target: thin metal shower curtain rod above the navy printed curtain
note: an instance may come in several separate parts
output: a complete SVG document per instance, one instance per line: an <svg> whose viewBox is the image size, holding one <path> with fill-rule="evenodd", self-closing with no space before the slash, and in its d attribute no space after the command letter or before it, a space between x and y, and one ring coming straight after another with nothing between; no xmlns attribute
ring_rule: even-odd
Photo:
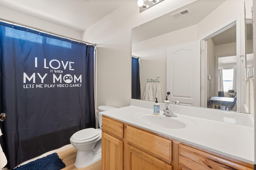
<svg viewBox="0 0 256 170"><path fill-rule="evenodd" d="M17 24L17 25L20 25L20 26L23 26L23 27L27 27L27 28L31 28L31 29L35 29L36 31L43 31L45 33L50 33L51 35L57 35L58 37L62 37L62 38L66 38L66 39L70 39L71 41L78 41L78 42L81 42L81 43L86 43L86 44L89 44L89 45L93 45L94 47L97 46L97 44L93 44L93 43L89 43L89 42L86 42L86 41L82 41L82 40L79 40L79 39L74 39L72 37L67 37L67 36L64 36L64 35L60 35L60 34L57 34L57 33L53 33L53 32L50 32L50 31L46 31L46 30L43 30L43 29L39 29L39 28L36 28L36 27L32 27L32 26L29 26L29 25L25 25L25 24L22 24L22 23L18 23L18 22L14 22L14 21L10 21L10 20L6 20L6 19L3 19L3 18L0 18L0 20L2 21L5 21L5 22L9 22L9 23L12 23L13 24Z"/></svg>

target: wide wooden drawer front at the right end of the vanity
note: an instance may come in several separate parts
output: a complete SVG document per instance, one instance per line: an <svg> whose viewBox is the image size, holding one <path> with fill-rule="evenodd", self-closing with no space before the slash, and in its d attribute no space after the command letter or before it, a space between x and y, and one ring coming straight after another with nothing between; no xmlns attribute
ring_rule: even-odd
<svg viewBox="0 0 256 170"><path fill-rule="evenodd" d="M183 144L179 144L179 163L186 170L252 170L252 168Z"/></svg>

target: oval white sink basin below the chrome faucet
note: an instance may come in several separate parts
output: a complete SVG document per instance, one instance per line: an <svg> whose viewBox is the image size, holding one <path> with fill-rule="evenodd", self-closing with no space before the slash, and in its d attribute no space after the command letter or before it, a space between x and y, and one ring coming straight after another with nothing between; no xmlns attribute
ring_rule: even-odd
<svg viewBox="0 0 256 170"><path fill-rule="evenodd" d="M148 125L157 127L163 127L168 129L183 129L190 125L196 125L196 123L186 117L178 115L178 117L168 117L165 115L154 115L151 112L140 112L134 115L134 118L138 121L142 121Z"/></svg>

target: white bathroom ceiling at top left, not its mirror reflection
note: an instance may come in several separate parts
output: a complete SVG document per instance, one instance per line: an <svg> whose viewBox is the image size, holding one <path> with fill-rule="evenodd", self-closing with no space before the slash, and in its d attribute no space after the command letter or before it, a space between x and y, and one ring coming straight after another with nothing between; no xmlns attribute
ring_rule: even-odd
<svg viewBox="0 0 256 170"><path fill-rule="evenodd" d="M127 1L0 0L0 6L82 32Z"/></svg>

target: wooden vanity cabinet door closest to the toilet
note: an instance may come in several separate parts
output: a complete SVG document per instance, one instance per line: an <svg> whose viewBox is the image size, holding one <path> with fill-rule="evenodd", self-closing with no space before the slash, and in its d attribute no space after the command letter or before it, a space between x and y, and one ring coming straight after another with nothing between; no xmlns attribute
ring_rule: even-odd
<svg viewBox="0 0 256 170"><path fill-rule="evenodd" d="M124 142L102 132L102 170L123 170Z"/></svg>

